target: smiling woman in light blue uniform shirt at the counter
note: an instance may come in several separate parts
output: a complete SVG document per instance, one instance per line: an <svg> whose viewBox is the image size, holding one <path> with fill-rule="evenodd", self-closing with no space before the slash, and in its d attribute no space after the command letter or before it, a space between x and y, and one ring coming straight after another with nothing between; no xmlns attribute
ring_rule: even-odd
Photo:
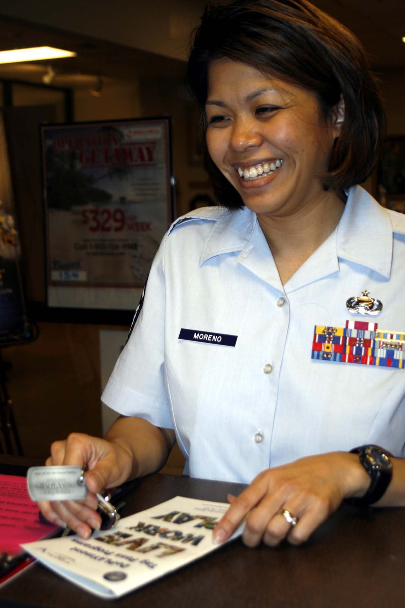
<svg viewBox="0 0 405 608"><path fill-rule="evenodd" d="M102 397L123 416L52 445L47 464L88 466L86 504L41 508L88 536L94 493L178 441L185 474L248 484L215 542L246 519L246 545L299 544L344 499L405 504L405 219L358 185L378 87L306 0L208 9L188 77L219 206L162 241Z"/></svg>

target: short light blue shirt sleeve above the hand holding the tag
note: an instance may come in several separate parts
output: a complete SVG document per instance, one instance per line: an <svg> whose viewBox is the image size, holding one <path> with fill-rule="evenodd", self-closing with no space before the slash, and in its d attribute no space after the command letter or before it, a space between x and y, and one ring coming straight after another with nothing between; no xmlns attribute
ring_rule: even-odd
<svg viewBox="0 0 405 608"><path fill-rule="evenodd" d="M165 388L165 277L162 241L154 258L138 314L102 395L106 406L125 416L173 428Z"/></svg>

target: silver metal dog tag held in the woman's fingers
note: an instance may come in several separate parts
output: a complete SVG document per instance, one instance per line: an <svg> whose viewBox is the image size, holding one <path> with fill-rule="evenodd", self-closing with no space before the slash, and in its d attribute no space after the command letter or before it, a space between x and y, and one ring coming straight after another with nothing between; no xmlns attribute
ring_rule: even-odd
<svg viewBox="0 0 405 608"><path fill-rule="evenodd" d="M87 496L81 466L32 466L27 472L32 500L83 500Z"/></svg>

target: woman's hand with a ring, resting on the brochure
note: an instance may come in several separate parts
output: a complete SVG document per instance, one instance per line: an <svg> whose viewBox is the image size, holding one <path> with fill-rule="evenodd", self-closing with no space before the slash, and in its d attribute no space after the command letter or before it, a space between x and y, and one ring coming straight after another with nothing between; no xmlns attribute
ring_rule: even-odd
<svg viewBox="0 0 405 608"><path fill-rule="evenodd" d="M231 504L213 531L213 541L226 541L246 519L242 538L248 547L256 547L261 541L275 547L285 538L298 545L343 499L362 496L369 483L358 455L347 452L300 458L266 469L240 496L228 496ZM296 525L288 523L283 510L297 518Z"/></svg>

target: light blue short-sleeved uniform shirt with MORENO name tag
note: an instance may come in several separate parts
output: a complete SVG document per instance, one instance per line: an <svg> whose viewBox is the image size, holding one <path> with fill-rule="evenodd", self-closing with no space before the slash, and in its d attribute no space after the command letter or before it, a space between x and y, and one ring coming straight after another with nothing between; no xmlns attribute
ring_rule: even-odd
<svg viewBox="0 0 405 608"><path fill-rule="evenodd" d="M405 331L405 217L351 188L338 227L284 286L249 209L181 219L103 401L175 429L193 477L249 483L269 466L365 443L405 456L405 369L311 359L315 325ZM377 317L348 313L365 290L383 303ZM236 344L179 339L182 328Z"/></svg>

